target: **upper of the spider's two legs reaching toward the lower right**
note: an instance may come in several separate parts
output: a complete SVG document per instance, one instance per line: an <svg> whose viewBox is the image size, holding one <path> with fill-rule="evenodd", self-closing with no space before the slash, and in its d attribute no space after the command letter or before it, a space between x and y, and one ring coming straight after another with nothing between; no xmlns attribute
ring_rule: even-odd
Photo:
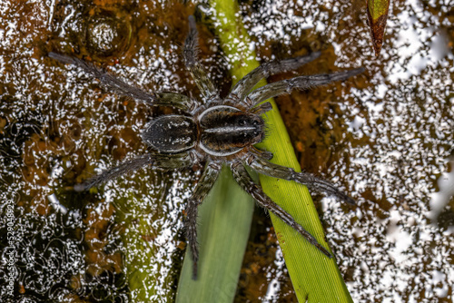
<svg viewBox="0 0 454 303"><path fill-rule="evenodd" d="M251 166L252 170L264 175L283 180L296 181L298 183L306 185L310 191L325 192L328 195L335 196L351 205L355 205L355 200L351 199L345 192L340 191L333 184L331 184L331 182L317 178L311 173L296 172L289 167L266 161L260 156L254 157L254 159L250 163L248 163L248 165Z"/></svg>

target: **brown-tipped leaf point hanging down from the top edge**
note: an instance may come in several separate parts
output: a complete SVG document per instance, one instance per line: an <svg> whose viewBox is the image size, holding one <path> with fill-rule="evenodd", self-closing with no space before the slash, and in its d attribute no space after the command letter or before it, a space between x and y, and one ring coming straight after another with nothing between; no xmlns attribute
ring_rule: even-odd
<svg viewBox="0 0 454 303"><path fill-rule="evenodd" d="M375 55L380 54L383 45L383 36L385 33L386 20L388 19L388 10L390 0L368 0L367 2L368 24L372 45Z"/></svg>

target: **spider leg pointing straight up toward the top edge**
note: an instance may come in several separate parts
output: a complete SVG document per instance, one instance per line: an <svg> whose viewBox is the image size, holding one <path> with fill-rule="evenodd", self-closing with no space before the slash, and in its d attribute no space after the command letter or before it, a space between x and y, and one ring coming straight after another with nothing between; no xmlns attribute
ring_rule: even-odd
<svg viewBox="0 0 454 303"><path fill-rule="evenodd" d="M183 47L183 58L184 64L186 65L189 72L192 74L192 79L199 87L203 97L210 99L213 96L218 95L218 91L212 84L207 73L202 68L197 55L199 54L197 28L195 26L195 19L193 15L189 16L189 34L184 41Z"/></svg>

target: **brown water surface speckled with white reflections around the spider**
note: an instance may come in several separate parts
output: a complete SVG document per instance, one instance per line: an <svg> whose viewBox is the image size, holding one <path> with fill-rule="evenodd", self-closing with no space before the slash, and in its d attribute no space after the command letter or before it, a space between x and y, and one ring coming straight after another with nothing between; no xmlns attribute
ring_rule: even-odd
<svg viewBox="0 0 454 303"><path fill-rule="evenodd" d="M173 298L192 171L138 171L98 191L72 191L96 171L142 153L141 128L169 110L116 97L45 58L49 51L84 55L147 90L195 92L180 57L194 7L169 7L0 4L0 279L15 281L14 301L130 301L125 275L141 270L153 300ZM390 7L379 59L370 49L363 1L241 7L265 61L321 50L321 59L300 73L367 68L353 81L277 100L301 167L359 201L354 210L318 202L353 299L451 301L452 5ZM209 27L201 26L201 36L202 62L226 91L226 59ZM142 247L126 251L124 243ZM148 256L151 263L143 261ZM258 211L236 301L294 301L291 289L270 221ZM11 299L8 288L0 298Z"/></svg>

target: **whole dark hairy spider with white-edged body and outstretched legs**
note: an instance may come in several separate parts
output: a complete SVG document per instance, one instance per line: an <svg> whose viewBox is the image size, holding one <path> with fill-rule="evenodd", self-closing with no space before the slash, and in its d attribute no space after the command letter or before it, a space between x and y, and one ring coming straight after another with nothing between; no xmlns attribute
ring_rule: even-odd
<svg viewBox="0 0 454 303"><path fill-rule="evenodd" d="M282 61L272 61L254 69L233 86L232 92L221 98L207 73L197 58L198 42L195 20L189 18L190 31L183 46L183 60L192 78L202 93L202 100L194 100L179 93L145 93L110 73L104 72L81 59L64 54L50 53L49 56L64 64L74 64L100 80L107 89L152 106L172 106L184 114L163 115L150 122L142 132L143 141L150 152L117 167L101 172L94 178L74 186L76 191L112 180L123 174L146 165L153 169L173 170L192 167L204 163L202 176L188 201L184 222L189 248L192 250L193 278L197 274L199 258L196 220L198 206L207 196L216 181L222 165L229 165L233 178L242 189L252 195L263 208L289 224L302 237L311 242L323 254L331 258L331 253L304 230L291 215L273 202L260 185L252 181L246 166L253 171L288 181L306 185L311 191L322 191L341 200L354 204L347 194L328 181L316 178L307 172L296 172L291 168L271 163L271 152L260 151L253 145L265 137L266 124L261 115L271 111L271 103L263 101L294 89L308 89L333 81L341 81L363 71L362 68L339 73L324 73L299 76L289 80L270 83L252 90L256 83L271 74L297 69L319 57L320 53L295 57ZM252 92L251 92L252 91Z"/></svg>

